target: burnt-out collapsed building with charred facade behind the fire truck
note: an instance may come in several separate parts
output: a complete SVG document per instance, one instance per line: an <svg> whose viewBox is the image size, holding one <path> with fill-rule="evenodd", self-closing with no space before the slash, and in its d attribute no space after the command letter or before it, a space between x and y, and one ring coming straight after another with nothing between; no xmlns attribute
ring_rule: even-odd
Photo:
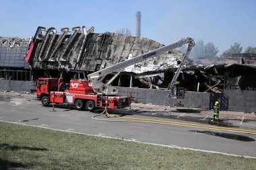
<svg viewBox="0 0 256 170"><path fill-rule="evenodd" d="M111 32L93 33L93 27L71 30L63 28L58 33L55 28L46 30L38 27L31 39L1 38L2 90L22 91L22 85L13 85L20 81L22 84L30 82L24 86L24 91L32 91L38 77L63 77L69 81L78 76L83 79L90 73L164 46L148 38ZM168 91L164 89L168 87L182 57L179 50L171 50L127 67L113 81L113 86L119 87L120 95L128 95L131 91L134 100L139 102L212 108L218 100L225 110L255 112L256 85L246 81L256 75L256 68L251 65L203 67L188 58L179 76L181 86L187 91L185 99L167 97ZM112 76L106 76L104 81ZM233 91L245 98L244 103L235 104Z"/></svg>

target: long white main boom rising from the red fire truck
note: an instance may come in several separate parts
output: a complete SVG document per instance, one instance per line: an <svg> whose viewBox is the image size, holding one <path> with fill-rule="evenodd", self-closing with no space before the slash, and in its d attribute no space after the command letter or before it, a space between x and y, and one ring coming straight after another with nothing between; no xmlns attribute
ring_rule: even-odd
<svg viewBox="0 0 256 170"><path fill-rule="evenodd" d="M179 47L183 46L184 44L189 44L189 48L191 50L191 48L194 46L194 41L192 38L189 38L189 37L185 38L185 39L181 39L178 42L174 42L172 44L162 46L162 47L152 50L150 52L146 52L139 56L135 56L134 58L131 58L129 60L119 62L116 65L110 66L106 69L96 71L96 72L88 75L88 79L90 80L90 85L92 86L94 91L96 91L97 93L117 94L117 89L115 89L114 87L110 87L109 85L106 85L104 83L101 83L100 81L98 81L98 79L100 79L100 77L104 77L105 75L108 75L110 73L115 73L117 71L120 71L121 69L125 69L126 67L134 65L137 62L147 60L148 58L152 58L158 54L162 54L164 52L173 50L174 48L179 48ZM185 60L185 58L187 58L187 56L188 56L187 53L190 52L189 48L188 48L183 60Z"/></svg>

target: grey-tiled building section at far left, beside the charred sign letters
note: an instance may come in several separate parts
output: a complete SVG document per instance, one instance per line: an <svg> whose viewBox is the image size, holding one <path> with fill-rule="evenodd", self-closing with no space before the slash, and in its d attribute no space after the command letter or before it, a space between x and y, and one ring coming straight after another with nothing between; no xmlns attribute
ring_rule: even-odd
<svg viewBox="0 0 256 170"><path fill-rule="evenodd" d="M0 90L30 91L33 72L26 61L30 39L0 37ZM11 83L12 82L12 83ZM23 83L22 89L20 83Z"/></svg>

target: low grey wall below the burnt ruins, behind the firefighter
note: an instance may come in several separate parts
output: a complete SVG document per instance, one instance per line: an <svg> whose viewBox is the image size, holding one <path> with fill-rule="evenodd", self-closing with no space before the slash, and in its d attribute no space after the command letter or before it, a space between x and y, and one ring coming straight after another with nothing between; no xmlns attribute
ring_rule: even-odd
<svg viewBox="0 0 256 170"><path fill-rule="evenodd" d="M256 112L256 91L225 90L223 94L189 91L185 93L184 99L172 99L166 90L118 88L119 95L129 95L131 91L137 102L212 109L214 103L220 101L221 110Z"/></svg>

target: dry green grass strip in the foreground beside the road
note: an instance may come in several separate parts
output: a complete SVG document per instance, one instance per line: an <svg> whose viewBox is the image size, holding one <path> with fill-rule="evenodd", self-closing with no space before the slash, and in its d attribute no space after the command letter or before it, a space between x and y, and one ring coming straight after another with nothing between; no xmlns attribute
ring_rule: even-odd
<svg viewBox="0 0 256 170"><path fill-rule="evenodd" d="M0 122L0 169L255 169L256 159Z"/></svg>

